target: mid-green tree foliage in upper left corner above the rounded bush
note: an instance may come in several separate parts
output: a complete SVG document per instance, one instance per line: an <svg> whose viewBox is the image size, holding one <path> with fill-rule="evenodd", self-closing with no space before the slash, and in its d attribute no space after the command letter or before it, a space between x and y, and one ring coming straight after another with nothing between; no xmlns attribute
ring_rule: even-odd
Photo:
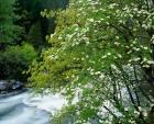
<svg viewBox="0 0 154 124"><path fill-rule="evenodd" d="M15 0L0 0L0 46L8 43L12 44L13 40L15 40L21 32L21 27L14 25L14 21L18 18L13 12L14 1Z"/></svg>

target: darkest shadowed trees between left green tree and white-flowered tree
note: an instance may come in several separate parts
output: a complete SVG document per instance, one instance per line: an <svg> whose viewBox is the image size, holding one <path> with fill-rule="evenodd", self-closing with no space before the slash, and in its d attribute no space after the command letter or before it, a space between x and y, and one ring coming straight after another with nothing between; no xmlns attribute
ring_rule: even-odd
<svg viewBox="0 0 154 124"><path fill-rule="evenodd" d="M65 8L68 0L16 0L15 13L20 15L16 24L24 27L22 40L31 43L38 52L48 44L45 36L55 30L54 18L46 19L40 13L43 9Z"/></svg>

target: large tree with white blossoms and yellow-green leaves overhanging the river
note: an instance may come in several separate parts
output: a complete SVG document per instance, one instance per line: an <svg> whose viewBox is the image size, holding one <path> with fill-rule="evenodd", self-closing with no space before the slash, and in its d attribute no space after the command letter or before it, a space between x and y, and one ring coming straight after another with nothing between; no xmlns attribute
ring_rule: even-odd
<svg viewBox="0 0 154 124"><path fill-rule="evenodd" d="M73 115L72 124L153 123L154 1L70 0L42 15L57 27L31 81L69 100L56 124Z"/></svg>

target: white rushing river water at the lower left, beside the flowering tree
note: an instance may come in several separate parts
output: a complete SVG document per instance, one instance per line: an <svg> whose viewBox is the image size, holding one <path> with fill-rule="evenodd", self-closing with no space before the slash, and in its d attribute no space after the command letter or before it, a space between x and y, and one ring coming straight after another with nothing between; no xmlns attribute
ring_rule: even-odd
<svg viewBox="0 0 154 124"><path fill-rule="evenodd" d="M30 92L0 99L0 124L50 124L50 115L66 101L59 94L37 95Z"/></svg>

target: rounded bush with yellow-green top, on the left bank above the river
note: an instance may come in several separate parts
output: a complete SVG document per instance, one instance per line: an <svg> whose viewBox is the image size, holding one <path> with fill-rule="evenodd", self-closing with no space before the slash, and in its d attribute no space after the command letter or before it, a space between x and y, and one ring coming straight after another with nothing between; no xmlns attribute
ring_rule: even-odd
<svg viewBox="0 0 154 124"><path fill-rule="evenodd" d="M28 70L29 65L36 58L37 54L33 46L23 44L22 46L9 46L0 53L0 79L16 79L25 81L23 70Z"/></svg>

